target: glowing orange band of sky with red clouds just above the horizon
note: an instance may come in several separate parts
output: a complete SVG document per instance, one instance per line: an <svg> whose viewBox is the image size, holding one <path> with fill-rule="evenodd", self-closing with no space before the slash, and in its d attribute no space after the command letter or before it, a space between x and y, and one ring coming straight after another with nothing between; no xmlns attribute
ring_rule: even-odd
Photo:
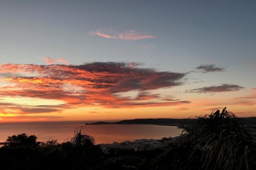
<svg viewBox="0 0 256 170"><path fill-rule="evenodd" d="M255 88L221 84L184 91L185 73L137 65L0 65L8 75L0 77L0 122L187 118L225 106L246 117L256 110Z"/></svg>

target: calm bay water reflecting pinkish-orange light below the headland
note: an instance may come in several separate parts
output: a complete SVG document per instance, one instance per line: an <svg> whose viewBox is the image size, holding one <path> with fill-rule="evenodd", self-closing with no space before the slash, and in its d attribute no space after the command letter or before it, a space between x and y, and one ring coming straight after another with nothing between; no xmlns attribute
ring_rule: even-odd
<svg viewBox="0 0 256 170"><path fill-rule="evenodd" d="M135 139L161 139L175 137L181 134L181 129L175 126L158 125L84 125L84 122L40 122L40 123L0 123L0 142L8 136L26 133L36 135L37 141L45 142L49 139L58 140L59 143L70 140L76 128L95 138L95 142L113 143Z"/></svg>

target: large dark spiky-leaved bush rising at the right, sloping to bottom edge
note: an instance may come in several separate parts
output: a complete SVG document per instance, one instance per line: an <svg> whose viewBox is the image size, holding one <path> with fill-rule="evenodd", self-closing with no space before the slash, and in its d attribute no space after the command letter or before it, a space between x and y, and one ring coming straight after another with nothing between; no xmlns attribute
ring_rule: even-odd
<svg viewBox="0 0 256 170"><path fill-rule="evenodd" d="M226 107L199 116L177 146L158 156L151 169L256 169L251 134Z"/></svg>

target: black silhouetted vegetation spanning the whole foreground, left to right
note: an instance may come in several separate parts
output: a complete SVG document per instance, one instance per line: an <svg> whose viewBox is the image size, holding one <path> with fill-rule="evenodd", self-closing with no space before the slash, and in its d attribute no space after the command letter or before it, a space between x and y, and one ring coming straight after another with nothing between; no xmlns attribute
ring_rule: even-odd
<svg viewBox="0 0 256 170"><path fill-rule="evenodd" d="M255 139L226 108L197 117L169 146L103 152L93 137L77 129L63 143L37 142L35 135L22 133L7 138L0 164L8 169L256 169Z"/></svg>

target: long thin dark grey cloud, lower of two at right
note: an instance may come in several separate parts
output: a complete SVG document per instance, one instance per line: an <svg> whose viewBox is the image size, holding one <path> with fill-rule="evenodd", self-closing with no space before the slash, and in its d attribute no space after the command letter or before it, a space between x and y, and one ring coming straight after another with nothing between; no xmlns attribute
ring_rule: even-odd
<svg viewBox="0 0 256 170"><path fill-rule="evenodd" d="M202 87L198 89L187 90L186 92L197 92L197 93L207 93L207 92L226 92L226 91L238 91L244 89L244 87L235 84L221 84L220 86L210 86Z"/></svg>

